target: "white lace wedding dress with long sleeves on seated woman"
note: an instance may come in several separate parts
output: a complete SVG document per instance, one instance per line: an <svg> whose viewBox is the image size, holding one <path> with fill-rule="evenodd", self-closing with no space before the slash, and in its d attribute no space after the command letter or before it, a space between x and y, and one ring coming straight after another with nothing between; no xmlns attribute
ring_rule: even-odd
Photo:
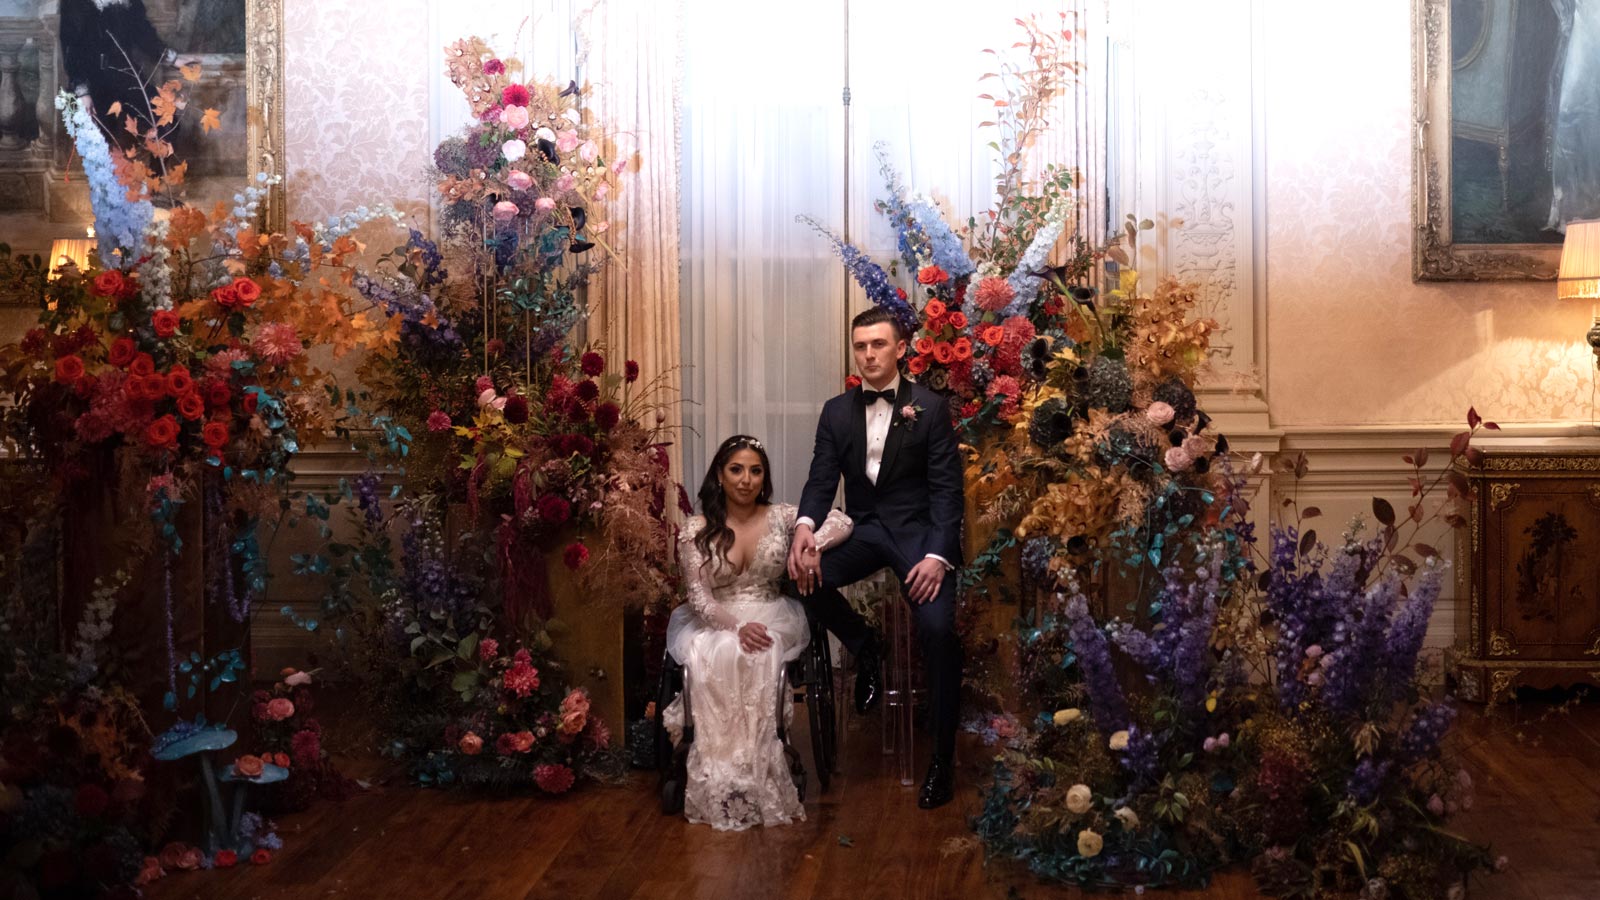
<svg viewBox="0 0 1600 900"><path fill-rule="evenodd" d="M690 519L680 536L688 602L667 621L667 652L685 668L694 724L683 815L718 831L805 820L778 740L781 692L786 722L794 708L784 663L797 658L810 642L805 609L778 593L794 525L792 504L771 504L766 532L742 572L722 559L707 562L694 546L706 527L704 517ZM850 530L850 517L835 509L816 532L818 548L838 544ZM765 625L773 645L746 653L738 628L747 621ZM682 737L683 695L662 711L662 724L674 741Z"/></svg>

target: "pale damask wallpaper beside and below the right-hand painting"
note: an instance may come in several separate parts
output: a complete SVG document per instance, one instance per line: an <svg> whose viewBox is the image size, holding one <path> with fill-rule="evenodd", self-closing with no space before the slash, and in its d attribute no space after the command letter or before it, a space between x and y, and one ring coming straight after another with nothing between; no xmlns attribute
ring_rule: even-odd
<svg viewBox="0 0 1600 900"><path fill-rule="evenodd" d="M1550 283L1411 282L1410 6L1256 5L1272 421L1459 423L1475 404L1587 423L1589 304Z"/></svg>

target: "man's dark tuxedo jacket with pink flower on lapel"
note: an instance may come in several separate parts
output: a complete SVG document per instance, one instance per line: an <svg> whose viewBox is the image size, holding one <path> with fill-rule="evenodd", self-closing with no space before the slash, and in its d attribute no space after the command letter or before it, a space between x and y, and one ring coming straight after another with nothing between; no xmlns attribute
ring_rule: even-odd
<svg viewBox="0 0 1600 900"><path fill-rule="evenodd" d="M901 413L917 407L912 420ZM944 396L901 378L878 482L867 480L867 413L861 388L822 405L800 514L821 524L845 477L845 512L877 520L915 565L930 552L962 564L962 453Z"/></svg>

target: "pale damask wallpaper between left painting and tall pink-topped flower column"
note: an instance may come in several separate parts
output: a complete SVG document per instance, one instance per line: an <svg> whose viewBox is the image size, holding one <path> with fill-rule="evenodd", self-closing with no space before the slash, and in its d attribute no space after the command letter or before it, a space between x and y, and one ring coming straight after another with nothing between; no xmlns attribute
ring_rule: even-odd
<svg viewBox="0 0 1600 900"><path fill-rule="evenodd" d="M427 221L427 0L283 5L290 219L389 202Z"/></svg>

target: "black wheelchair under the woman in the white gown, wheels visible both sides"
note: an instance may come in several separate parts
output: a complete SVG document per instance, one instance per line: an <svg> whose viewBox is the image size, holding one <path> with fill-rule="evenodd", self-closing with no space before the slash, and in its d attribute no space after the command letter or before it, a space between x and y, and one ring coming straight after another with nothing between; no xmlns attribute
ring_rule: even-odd
<svg viewBox="0 0 1600 900"><path fill-rule="evenodd" d="M800 801L806 796L806 770L800 762L800 753L789 743L789 729L784 724L784 703L800 703L806 706L806 717L811 724L811 765L816 769L816 781L821 791L827 791L834 772L838 770L838 716L834 706L834 653L829 647L827 629L806 610L806 626L811 641L800 657L786 665L786 684L779 690L778 740L784 745L784 756L789 759L789 775L794 778ZM683 812L683 791L688 788L688 751L694 741L694 698L686 692L683 665L662 653L661 684L656 689L656 764L659 770L661 812L678 815ZM683 692L683 740L672 746L667 729L661 724L662 711L672 698Z"/></svg>

